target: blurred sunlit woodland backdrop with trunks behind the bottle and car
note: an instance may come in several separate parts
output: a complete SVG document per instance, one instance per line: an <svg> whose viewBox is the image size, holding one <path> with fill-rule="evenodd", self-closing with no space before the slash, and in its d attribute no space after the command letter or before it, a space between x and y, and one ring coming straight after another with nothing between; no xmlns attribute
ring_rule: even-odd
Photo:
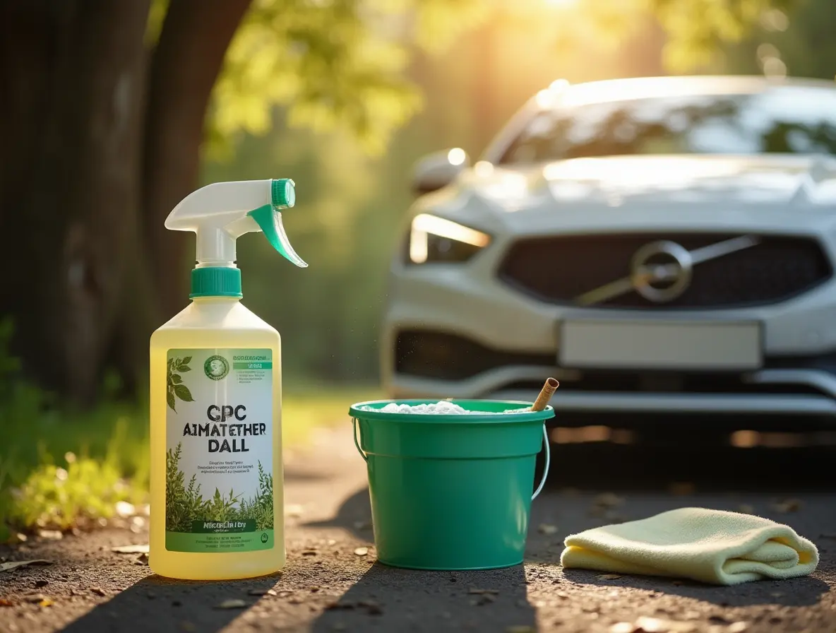
<svg viewBox="0 0 836 633"><path fill-rule="evenodd" d="M833 77L819 54L832 3L795 4L3 3L0 227L15 269L0 310L17 324L13 350L76 400L94 400L108 368L133 391L150 330L186 304L192 238L167 232L167 213L208 181L290 176L286 226L311 268L246 236L245 301L283 333L290 376L375 380L417 156L477 155L558 77L760 73L780 69L763 66L773 48L793 74Z"/></svg>

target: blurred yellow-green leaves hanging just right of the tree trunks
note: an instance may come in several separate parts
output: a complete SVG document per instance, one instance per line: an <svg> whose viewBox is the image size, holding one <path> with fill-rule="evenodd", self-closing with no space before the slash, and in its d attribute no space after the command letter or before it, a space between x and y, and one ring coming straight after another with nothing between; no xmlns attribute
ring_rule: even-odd
<svg viewBox="0 0 836 633"><path fill-rule="evenodd" d="M438 49L486 13L479 0L255 0L227 51L207 151L229 156L238 132L263 134L274 105L288 125L347 130L379 154L421 107L405 76L412 42ZM412 24L416 28L410 28Z"/></svg>

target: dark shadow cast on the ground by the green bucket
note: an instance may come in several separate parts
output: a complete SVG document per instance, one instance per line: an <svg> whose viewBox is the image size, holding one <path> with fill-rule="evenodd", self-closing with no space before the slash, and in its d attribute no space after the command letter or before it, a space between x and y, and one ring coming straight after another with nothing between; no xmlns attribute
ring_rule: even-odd
<svg viewBox="0 0 836 633"><path fill-rule="evenodd" d="M375 563L312 630L366 630L370 617L377 630L536 630L523 565L443 572Z"/></svg>

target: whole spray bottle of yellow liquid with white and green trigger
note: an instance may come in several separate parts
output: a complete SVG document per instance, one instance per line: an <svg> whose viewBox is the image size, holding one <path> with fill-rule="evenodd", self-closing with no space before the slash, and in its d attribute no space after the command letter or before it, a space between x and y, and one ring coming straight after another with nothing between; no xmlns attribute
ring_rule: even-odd
<svg viewBox="0 0 836 633"><path fill-rule="evenodd" d="M241 304L235 242L293 251L281 209L293 181L217 182L166 228L196 232L191 304L150 339L150 567L169 578L271 574L285 562L278 332Z"/></svg>

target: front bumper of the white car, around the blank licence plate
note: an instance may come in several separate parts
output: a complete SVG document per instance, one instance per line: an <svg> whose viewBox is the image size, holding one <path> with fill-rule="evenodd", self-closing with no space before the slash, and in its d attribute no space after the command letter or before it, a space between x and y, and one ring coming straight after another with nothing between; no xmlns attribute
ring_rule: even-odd
<svg viewBox="0 0 836 633"><path fill-rule="evenodd" d="M466 266L395 265L381 340L390 397L532 401L553 375L561 382L552 402L559 411L836 415L834 280L780 304L714 309L710 316L699 310L606 310L608 318L667 323L757 321L764 358L757 370L579 370L558 363L558 324L600 311L547 304L508 287L494 273L497 257L482 253ZM435 358L419 359L429 349L420 342L426 335L449 337L449 349L436 339ZM405 345L410 336L411 347Z"/></svg>

